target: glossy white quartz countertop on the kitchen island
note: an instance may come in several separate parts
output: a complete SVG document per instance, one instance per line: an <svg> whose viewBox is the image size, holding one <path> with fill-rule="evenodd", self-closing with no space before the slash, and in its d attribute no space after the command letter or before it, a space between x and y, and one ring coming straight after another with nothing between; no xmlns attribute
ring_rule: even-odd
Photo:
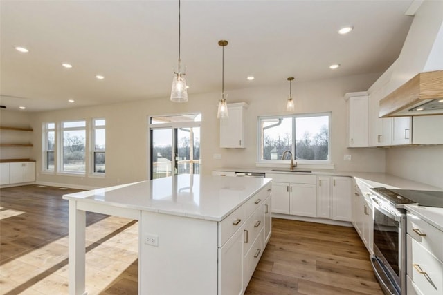
<svg viewBox="0 0 443 295"><path fill-rule="evenodd" d="M269 178L184 174L70 193L63 198L221 221L269 182Z"/></svg>

